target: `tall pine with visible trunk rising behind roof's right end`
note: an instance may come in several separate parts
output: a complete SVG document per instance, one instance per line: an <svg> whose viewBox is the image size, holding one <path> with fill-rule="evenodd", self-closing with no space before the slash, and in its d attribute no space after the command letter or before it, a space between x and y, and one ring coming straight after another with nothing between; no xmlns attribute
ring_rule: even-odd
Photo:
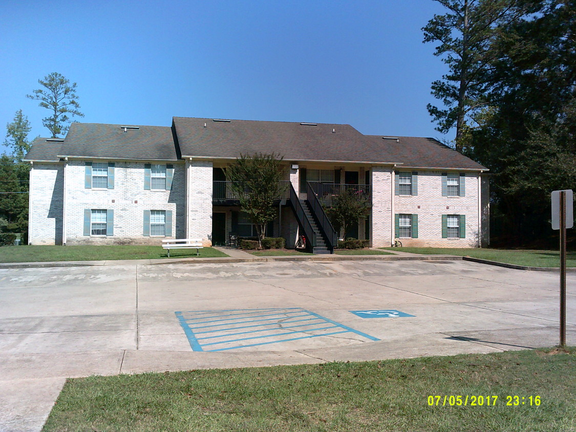
<svg viewBox="0 0 576 432"><path fill-rule="evenodd" d="M444 107L428 104L436 130L444 134L456 128L456 150L462 151L467 129L476 126L475 116L487 106L490 88L487 73L494 60L490 44L499 27L539 9L529 0L436 0L448 9L434 15L422 28L424 42L438 42L434 55L442 58L449 72L432 83L431 94Z"/></svg>

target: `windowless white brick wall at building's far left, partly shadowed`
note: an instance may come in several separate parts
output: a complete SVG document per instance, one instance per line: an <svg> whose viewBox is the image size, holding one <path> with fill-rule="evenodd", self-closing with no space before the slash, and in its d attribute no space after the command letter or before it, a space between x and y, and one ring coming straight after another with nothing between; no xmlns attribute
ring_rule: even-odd
<svg viewBox="0 0 576 432"><path fill-rule="evenodd" d="M62 244L63 163L35 162L30 170L28 242Z"/></svg>

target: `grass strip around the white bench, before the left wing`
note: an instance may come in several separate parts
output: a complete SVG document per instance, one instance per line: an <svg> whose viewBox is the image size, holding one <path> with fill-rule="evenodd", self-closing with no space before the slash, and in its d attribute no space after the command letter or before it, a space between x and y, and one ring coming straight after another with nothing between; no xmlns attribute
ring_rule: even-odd
<svg viewBox="0 0 576 432"><path fill-rule="evenodd" d="M170 258L191 258L196 249L172 249ZM199 257L228 256L213 248L200 249ZM167 258L161 246L3 246L0 263L29 263L39 261L102 261Z"/></svg>

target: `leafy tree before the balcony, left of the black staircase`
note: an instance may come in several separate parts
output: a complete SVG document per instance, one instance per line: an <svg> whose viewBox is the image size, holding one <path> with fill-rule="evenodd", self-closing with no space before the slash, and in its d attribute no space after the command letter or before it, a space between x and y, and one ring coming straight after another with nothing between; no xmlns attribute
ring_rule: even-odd
<svg viewBox="0 0 576 432"><path fill-rule="evenodd" d="M274 221L276 207L274 201L282 195L282 157L257 153L253 156L240 155L226 169L226 180L230 188L240 198L240 208L247 213L256 225L258 245L266 233L267 223Z"/></svg>

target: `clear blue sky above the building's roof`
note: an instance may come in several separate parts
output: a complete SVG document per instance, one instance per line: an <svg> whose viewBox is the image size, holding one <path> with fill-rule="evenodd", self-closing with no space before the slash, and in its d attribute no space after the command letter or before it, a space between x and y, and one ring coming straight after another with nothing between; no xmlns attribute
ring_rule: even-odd
<svg viewBox="0 0 576 432"><path fill-rule="evenodd" d="M442 138L426 104L446 67L421 28L443 12L432 0L5 2L1 142L18 109L30 138L50 136L48 110L25 95L51 72L77 82L81 122L348 123Z"/></svg>

